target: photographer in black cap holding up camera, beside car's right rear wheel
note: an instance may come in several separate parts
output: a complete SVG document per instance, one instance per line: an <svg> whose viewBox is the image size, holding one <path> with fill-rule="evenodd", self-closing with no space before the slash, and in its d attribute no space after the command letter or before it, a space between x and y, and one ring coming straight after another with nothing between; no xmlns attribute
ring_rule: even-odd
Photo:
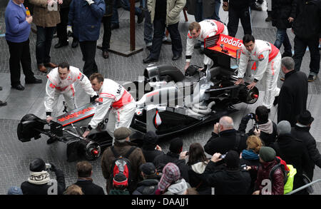
<svg viewBox="0 0 321 209"><path fill-rule="evenodd" d="M250 119L255 121L255 126L250 129L248 136L260 136L265 146L270 146L275 142L277 136L277 126L269 118L268 109L265 106L258 106L255 113L250 113L242 118L238 131L245 133L246 126ZM260 131L260 135L255 132Z"/></svg>

